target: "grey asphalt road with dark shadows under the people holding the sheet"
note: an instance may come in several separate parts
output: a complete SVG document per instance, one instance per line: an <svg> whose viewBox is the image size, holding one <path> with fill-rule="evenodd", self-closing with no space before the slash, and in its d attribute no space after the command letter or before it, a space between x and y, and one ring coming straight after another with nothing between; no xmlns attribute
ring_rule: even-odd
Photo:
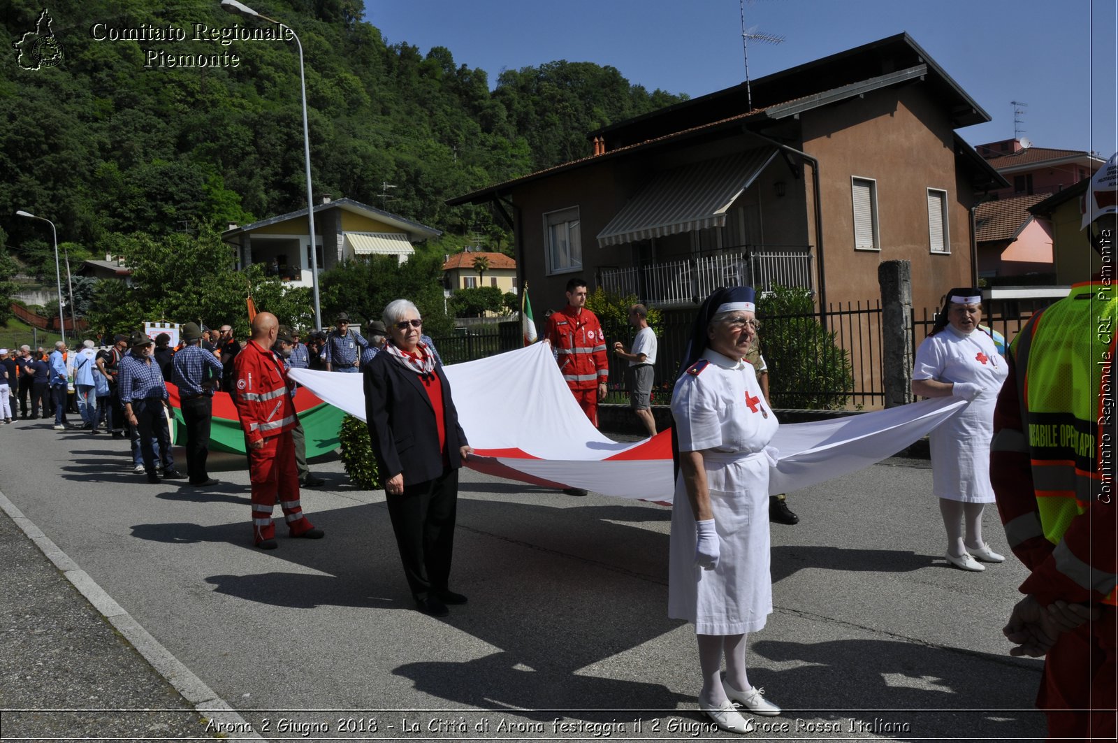
<svg viewBox="0 0 1118 743"><path fill-rule="evenodd" d="M464 471L452 589L470 603L432 619L414 610L383 493L351 487L340 462L313 468L328 485L303 491L326 537L288 539L280 528L280 548L260 552L246 471L215 473L222 485L207 491L152 486L131 472L124 441L44 422L3 426L0 438L11 504L265 739L732 737L694 713L693 632L665 615L666 508ZM1043 739L1041 664L1011 658L1001 634L1024 571L1012 557L980 574L948 566L930 490L927 462L890 460L789 496L802 520L773 526L776 609L748 657L752 684L786 713L756 718L746 737ZM986 526L1005 552L993 509ZM35 595L6 591L0 737L55 737L49 725L65 726L64 713L15 707L127 708L116 713L129 721L121 737L150 727L151 713L134 709L174 695L139 655L58 626L84 599L67 598L68 584L55 585L57 571L44 573L9 527L6 583L69 603L36 610L47 648L25 641L31 624L19 620ZM85 610L86 623L97 618ZM110 656L159 693L89 690ZM57 696L50 675L78 692ZM28 686L37 676L47 680ZM207 728L178 699L165 707L179 722L157 722L143 740L161 730L243 736Z"/></svg>

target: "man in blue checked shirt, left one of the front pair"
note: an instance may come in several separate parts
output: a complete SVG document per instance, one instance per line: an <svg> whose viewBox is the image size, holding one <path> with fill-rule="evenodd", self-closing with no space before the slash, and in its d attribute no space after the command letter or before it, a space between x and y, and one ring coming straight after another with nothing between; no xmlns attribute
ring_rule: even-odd
<svg viewBox="0 0 1118 743"><path fill-rule="evenodd" d="M159 482L153 436L159 444L163 477L168 480L181 479L182 474L174 469L174 458L171 457L171 432L165 413L170 404L169 395L163 373L152 359L154 342L138 330L132 333L131 345L132 350L121 359L120 365L121 403L124 405L124 418L136 431L148 482Z"/></svg>

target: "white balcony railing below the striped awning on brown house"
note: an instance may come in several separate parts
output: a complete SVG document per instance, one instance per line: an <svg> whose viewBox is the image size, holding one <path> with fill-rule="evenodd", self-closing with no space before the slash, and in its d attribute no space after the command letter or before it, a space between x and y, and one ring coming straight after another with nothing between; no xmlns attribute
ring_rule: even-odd
<svg viewBox="0 0 1118 743"><path fill-rule="evenodd" d="M603 269L607 291L635 294L646 304L694 304L719 286L774 284L814 291L811 247L736 248L697 258L680 258L627 269Z"/></svg>

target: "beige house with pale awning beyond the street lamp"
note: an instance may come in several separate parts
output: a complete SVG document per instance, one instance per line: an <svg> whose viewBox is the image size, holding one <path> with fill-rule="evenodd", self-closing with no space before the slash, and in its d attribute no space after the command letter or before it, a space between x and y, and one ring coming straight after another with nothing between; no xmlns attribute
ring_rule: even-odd
<svg viewBox="0 0 1118 743"><path fill-rule="evenodd" d="M311 285L311 238L306 209L231 225L221 238L237 247L237 270L259 263L296 286ZM437 237L438 229L350 198L323 197L314 207L314 244L319 271L366 255L394 255L404 263L415 243Z"/></svg>

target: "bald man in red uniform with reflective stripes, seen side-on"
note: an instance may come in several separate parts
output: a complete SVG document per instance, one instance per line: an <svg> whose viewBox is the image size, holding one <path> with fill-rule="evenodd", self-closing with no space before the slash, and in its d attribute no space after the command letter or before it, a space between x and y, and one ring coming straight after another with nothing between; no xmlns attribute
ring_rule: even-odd
<svg viewBox="0 0 1118 743"><path fill-rule="evenodd" d="M248 450L248 472L253 481L253 534L260 549L275 549L272 510L280 500L293 537L321 539L303 516L299 501L299 473L292 430L299 422L283 361L272 351L280 322L271 312L253 319L253 337L234 358L233 398Z"/></svg>

